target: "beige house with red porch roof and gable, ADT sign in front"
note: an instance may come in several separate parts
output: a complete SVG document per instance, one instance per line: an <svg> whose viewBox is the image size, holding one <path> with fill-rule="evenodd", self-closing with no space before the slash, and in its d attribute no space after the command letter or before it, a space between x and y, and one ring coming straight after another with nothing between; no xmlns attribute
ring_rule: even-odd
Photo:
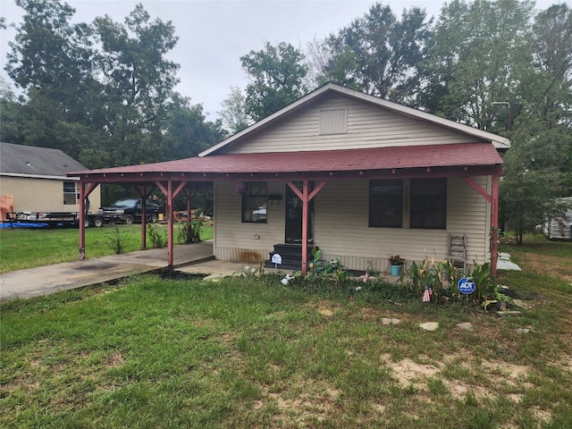
<svg viewBox="0 0 572 429"><path fill-rule="evenodd" d="M391 255L448 257L452 234L464 236L472 265L496 255L498 150L508 148L501 136L330 83L198 157L80 178L157 186L168 206L212 181L218 259L263 261L289 244L307 263L315 245L349 269L386 270Z"/></svg>

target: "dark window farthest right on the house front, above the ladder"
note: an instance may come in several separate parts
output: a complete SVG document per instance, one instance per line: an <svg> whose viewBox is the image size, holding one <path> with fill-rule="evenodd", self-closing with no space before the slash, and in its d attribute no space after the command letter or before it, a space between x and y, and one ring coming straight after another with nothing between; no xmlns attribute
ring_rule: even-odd
<svg viewBox="0 0 572 429"><path fill-rule="evenodd" d="M446 226L447 179L411 179L411 228Z"/></svg>

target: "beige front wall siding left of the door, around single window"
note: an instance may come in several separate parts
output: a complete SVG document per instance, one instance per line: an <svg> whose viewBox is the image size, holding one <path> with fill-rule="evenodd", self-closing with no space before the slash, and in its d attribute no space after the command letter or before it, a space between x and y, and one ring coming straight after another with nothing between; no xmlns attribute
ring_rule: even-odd
<svg viewBox="0 0 572 429"><path fill-rule="evenodd" d="M265 261L273 245L284 241L284 183L268 182L268 194L282 195L280 203L266 205L267 223L242 223L242 198L234 182L214 184L214 257L227 261Z"/></svg>

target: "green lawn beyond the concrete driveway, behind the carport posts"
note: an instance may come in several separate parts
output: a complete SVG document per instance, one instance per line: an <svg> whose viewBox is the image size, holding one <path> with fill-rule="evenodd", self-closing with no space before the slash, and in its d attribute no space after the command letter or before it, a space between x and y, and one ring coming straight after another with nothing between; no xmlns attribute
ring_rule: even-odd
<svg viewBox="0 0 572 429"><path fill-rule="evenodd" d="M166 225L155 225L166 237ZM139 250L141 246L141 225L117 225L125 252ZM178 242L176 225L173 229L175 243ZM88 257L113 255L109 246L114 226L88 228L86 230L86 252ZM0 273L21 270L41 265L52 265L78 259L80 232L76 229L3 229L0 230ZM201 230L201 240L213 238L212 226ZM152 245L147 236L147 248Z"/></svg>

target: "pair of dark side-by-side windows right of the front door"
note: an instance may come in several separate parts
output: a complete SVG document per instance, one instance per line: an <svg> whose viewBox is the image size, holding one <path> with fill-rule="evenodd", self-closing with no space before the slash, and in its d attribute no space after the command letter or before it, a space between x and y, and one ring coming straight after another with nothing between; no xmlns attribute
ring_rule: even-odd
<svg viewBox="0 0 572 429"><path fill-rule="evenodd" d="M445 229L447 179L377 180L369 182L369 226ZM405 219L405 221L404 221Z"/></svg>

